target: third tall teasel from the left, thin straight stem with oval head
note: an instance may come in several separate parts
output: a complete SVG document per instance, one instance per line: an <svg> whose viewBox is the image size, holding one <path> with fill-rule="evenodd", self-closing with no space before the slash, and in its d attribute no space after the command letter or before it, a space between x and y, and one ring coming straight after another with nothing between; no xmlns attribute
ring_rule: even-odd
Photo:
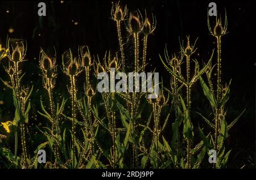
<svg viewBox="0 0 256 180"><path fill-rule="evenodd" d="M67 59L67 62L64 62L64 59ZM62 55L62 65L63 72L66 74L70 80L70 86L68 87L68 91L71 96L71 104L72 104L72 168L76 168L75 166L75 158L76 158L76 149L75 149L75 128L76 128L76 118L77 118L77 87L76 87L76 78L82 72L81 62L79 58L73 57L71 49L64 52Z"/></svg>

